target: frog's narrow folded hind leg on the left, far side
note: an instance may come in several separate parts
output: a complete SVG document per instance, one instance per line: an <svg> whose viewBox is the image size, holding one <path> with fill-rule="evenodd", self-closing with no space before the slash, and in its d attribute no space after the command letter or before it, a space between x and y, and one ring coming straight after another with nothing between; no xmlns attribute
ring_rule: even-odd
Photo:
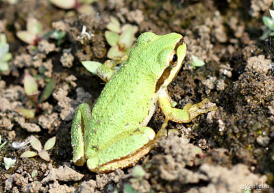
<svg viewBox="0 0 274 193"><path fill-rule="evenodd" d="M84 163L86 162L83 131L89 125L90 117L91 117L90 106L87 103L82 103L81 105L79 105L75 113L75 117L73 118L73 124L71 126L71 144L73 146L73 163L77 166L83 166ZM85 125L85 128L84 128L84 125Z"/></svg>

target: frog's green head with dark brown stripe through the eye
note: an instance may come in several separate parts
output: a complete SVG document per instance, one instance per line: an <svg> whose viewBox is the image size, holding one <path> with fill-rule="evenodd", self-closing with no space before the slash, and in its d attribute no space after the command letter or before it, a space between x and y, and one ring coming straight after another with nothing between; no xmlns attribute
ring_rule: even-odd
<svg viewBox="0 0 274 193"><path fill-rule="evenodd" d="M156 91L166 88L179 72L186 56L183 36L177 33L157 36L146 32L138 38L136 47L142 49L139 53L149 53L139 56L145 58L146 72L154 75L157 80Z"/></svg>

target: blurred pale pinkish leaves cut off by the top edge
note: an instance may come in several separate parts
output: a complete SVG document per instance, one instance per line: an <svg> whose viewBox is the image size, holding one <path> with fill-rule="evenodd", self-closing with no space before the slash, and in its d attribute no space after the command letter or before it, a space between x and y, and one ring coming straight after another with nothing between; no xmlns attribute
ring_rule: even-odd
<svg viewBox="0 0 274 193"><path fill-rule="evenodd" d="M53 5L64 10L77 10L80 14L90 14L93 8L90 4L98 0L49 0Z"/></svg>

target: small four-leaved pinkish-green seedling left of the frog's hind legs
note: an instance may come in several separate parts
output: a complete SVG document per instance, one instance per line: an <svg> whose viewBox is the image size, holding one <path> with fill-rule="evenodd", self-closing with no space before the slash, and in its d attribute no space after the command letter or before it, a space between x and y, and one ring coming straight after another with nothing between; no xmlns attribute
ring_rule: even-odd
<svg viewBox="0 0 274 193"><path fill-rule="evenodd" d="M41 157L45 161L49 162L49 160L51 160L51 159L50 159L49 153L47 151L49 151L50 149L53 148L53 146L55 145L55 141L56 141L56 137L50 138L45 143L44 149L42 149L42 144L41 144L40 140L38 140L34 136L30 136L30 144L32 145L33 149L38 151L38 153L36 151L25 151L24 153L21 154L20 157L21 158L23 158L23 157L34 157L36 155L39 155L39 157Z"/></svg>

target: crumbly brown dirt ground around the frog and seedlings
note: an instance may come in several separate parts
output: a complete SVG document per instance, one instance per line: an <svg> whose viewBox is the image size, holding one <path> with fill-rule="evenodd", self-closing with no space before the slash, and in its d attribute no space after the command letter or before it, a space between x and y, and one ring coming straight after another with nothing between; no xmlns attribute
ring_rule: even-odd
<svg viewBox="0 0 274 193"><path fill-rule="evenodd" d="M271 38L260 40L272 1L108 0L92 3L90 14L46 0L11 2L0 1L0 34L12 53L10 69L0 73L0 135L1 143L7 141L0 150L0 192L274 192L274 50ZM174 132L136 167L96 174L72 163L70 131L77 106L94 103L103 88L81 61L108 59L110 16L138 26L136 38L145 31L182 34L186 60L169 94L177 108L208 98L219 110L169 123ZM25 30L29 17L44 32L63 31L64 38L22 42L16 31ZM80 36L84 25L90 37ZM206 65L191 66L193 56ZM23 88L25 73L36 77L40 91L55 79L34 118L17 110L33 106ZM158 109L149 127L156 132L163 120ZM34 151L29 144L14 148L32 135L42 144L56 136L49 162L21 158ZM16 159L8 170L4 157Z"/></svg>

